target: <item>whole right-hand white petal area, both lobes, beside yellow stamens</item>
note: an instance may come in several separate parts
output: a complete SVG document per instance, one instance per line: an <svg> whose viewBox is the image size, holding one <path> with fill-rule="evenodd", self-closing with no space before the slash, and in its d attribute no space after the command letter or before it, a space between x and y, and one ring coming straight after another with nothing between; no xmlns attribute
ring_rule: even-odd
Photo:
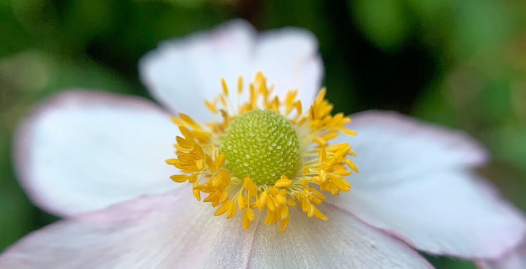
<svg viewBox="0 0 526 269"><path fill-rule="evenodd" d="M470 171L484 151L467 136L379 112L359 114L345 138L360 173L328 202L419 250L498 257L518 244L522 216Z"/></svg>

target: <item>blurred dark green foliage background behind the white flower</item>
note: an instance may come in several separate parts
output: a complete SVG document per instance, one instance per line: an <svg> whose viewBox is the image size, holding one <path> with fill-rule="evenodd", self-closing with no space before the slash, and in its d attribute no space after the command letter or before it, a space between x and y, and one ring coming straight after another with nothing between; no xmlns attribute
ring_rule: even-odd
<svg viewBox="0 0 526 269"><path fill-rule="evenodd" d="M13 175L12 132L29 109L70 87L150 98L141 55L234 17L315 33L336 111L394 109L477 137L493 156L481 173L525 210L524 14L519 0L0 0L0 251L57 220Z"/></svg>

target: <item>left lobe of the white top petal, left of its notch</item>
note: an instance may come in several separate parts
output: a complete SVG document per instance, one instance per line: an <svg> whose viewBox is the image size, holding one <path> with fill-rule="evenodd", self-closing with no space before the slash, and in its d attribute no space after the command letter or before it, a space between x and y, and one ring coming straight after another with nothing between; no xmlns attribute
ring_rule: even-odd
<svg viewBox="0 0 526 269"><path fill-rule="evenodd" d="M141 80L166 107L204 121L211 115L204 101L220 93L220 78L235 89L235 78L247 71L256 34L250 24L236 20L166 41L140 60Z"/></svg>

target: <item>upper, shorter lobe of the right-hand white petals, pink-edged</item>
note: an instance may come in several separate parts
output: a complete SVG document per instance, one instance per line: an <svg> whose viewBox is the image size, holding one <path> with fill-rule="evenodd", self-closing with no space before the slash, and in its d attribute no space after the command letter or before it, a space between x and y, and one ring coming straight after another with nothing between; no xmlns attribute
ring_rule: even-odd
<svg viewBox="0 0 526 269"><path fill-rule="evenodd" d="M347 139L358 154L355 184L387 184L412 175L478 166L488 154L464 133L426 124L395 112L366 111L351 115L358 133ZM374 176L371 176L374 173Z"/></svg>

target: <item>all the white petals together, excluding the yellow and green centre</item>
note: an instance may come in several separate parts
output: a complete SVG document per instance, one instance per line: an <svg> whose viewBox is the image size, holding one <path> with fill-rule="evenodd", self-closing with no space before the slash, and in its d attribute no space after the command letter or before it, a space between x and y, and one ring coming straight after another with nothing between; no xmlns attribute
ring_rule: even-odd
<svg viewBox="0 0 526 269"><path fill-rule="evenodd" d="M322 77L316 38L295 28L258 35L234 21L164 43L141 61L164 108L94 91L44 103L16 135L16 170L36 205L68 218L9 247L0 267L420 268L431 265L412 248L491 260L519 244L522 216L473 172L487 161L484 149L392 112L352 115L359 135L336 138L358 153L360 173L346 177L350 192L319 206L329 221L293 207L284 232L263 225L261 214L244 231L239 214L214 217L188 185L169 180L180 172L164 161L181 135L170 114L209 121L203 101L216 95L220 77L236 85L256 71L280 97L298 88L311 104Z"/></svg>

